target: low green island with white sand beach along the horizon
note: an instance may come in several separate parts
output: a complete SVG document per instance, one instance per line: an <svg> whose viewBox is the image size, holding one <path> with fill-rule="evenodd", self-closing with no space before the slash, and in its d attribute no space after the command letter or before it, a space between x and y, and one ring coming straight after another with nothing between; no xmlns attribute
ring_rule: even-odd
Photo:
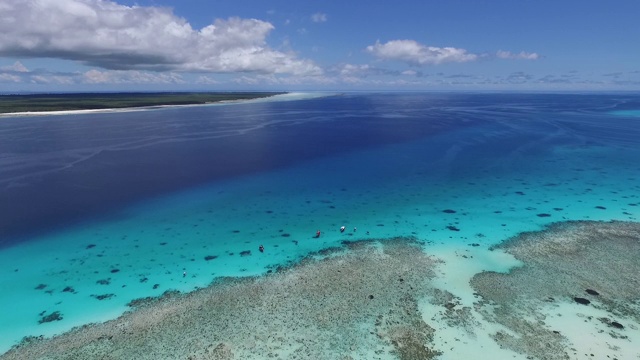
<svg viewBox="0 0 640 360"><path fill-rule="evenodd" d="M285 92L158 92L1 95L0 116L64 114L206 105L253 100Z"/></svg>

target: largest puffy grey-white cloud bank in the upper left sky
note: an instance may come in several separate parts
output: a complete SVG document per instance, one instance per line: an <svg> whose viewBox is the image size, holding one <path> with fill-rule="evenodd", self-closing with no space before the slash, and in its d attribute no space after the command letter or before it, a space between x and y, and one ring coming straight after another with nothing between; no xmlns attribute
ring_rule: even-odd
<svg viewBox="0 0 640 360"><path fill-rule="evenodd" d="M273 25L218 19L193 29L164 7L109 0L0 4L0 56L75 60L111 70L318 74L313 62L271 49Z"/></svg>

